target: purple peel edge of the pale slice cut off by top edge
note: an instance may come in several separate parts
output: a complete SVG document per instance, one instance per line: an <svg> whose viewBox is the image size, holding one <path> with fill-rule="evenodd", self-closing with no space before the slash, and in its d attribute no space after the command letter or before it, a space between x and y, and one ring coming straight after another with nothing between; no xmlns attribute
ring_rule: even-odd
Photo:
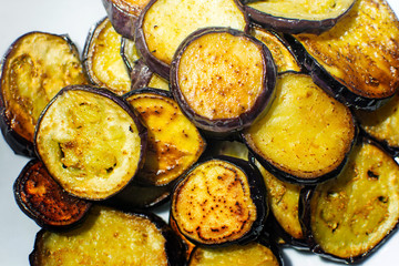
<svg viewBox="0 0 399 266"><path fill-rule="evenodd" d="M306 19L294 19L276 17L269 13L262 12L257 9L246 6L245 1L238 0L244 10L248 13L248 17L255 23L262 25L268 30L275 30L283 33L313 33L320 34L324 31L331 29L340 19L342 19L349 10L354 7L355 1L350 7L342 12L340 16L324 20L306 20Z"/></svg>

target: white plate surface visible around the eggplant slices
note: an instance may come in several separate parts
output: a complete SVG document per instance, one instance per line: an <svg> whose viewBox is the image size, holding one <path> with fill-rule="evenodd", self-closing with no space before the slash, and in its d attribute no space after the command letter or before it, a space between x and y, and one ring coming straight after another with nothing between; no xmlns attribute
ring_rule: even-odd
<svg viewBox="0 0 399 266"><path fill-rule="evenodd" d="M388 0L399 13L399 1ZM21 34L29 31L68 33L80 51L92 24L105 17L100 0L17 0L0 3L0 55ZM29 265L28 255L39 231L17 206L12 185L27 158L17 156L0 136L0 264ZM166 213L161 214L164 218ZM399 234L393 234L364 265L397 265ZM284 249L286 265L334 265L317 255Z"/></svg>

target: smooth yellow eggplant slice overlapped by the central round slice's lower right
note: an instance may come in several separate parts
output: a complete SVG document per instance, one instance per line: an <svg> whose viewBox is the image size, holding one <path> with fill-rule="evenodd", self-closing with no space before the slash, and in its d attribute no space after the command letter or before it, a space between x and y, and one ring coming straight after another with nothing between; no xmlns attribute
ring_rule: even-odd
<svg viewBox="0 0 399 266"><path fill-rule="evenodd" d="M280 75L276 91L266 115L243 132L249 150L286 182L315 184L335 177L357 135L350 110L306 74Z"/></svg>

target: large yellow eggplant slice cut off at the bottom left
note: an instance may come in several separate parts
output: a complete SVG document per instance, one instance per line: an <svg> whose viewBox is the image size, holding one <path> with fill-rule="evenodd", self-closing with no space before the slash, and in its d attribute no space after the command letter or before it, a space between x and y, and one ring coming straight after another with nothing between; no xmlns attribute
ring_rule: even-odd
<svg viewBox="0 0 399 266"><path fill-rule="evenodd" d="M181 266L184 264L182 250L182 243L170 226L154 214L93 206L76 229L40 231L29 258L32 266Z"/></svg>

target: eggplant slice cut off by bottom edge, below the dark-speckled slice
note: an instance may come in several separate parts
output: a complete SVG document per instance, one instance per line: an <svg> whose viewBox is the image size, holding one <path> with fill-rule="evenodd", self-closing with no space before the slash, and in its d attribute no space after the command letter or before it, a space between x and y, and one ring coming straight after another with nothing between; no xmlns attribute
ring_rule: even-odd
<svg viewBox="0 0 399 266"><path fill-rule="evenodd" d="M272 248L259 243L250 242L245 245L232 245L227 247L201 247L193 250L188 266L282 266L280 255Z"/></svg>

